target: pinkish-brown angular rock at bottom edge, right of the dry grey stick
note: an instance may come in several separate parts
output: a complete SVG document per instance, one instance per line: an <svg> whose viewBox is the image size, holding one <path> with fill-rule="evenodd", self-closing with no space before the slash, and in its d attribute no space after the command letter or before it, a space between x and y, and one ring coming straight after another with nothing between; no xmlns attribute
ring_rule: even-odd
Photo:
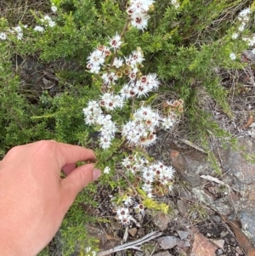
<svg viewBox="0 0 255 256"><path fill-rule="evenodd" d="M201 233L197 233L194 236L193 247L190 255L195 256L214 256L217 247L210 242L206 236Z"/></svg>

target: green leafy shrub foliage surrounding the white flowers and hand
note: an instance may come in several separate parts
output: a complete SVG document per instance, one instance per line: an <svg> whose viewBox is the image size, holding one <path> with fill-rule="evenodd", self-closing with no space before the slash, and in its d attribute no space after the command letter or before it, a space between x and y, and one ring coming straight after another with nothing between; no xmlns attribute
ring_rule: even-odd
<svg viewBox="0 0 255 256"><path fill-rule="evenodd" d="M101 84L98 76L87 70L88 55L99 45L106 44L108 37L120 34L127 20L125 1L98 0L52 0L58 7L53 14L56 26L47 27L43 33L32 27L24 30L24 39L10 35L7 41L0 40L0 154L3 156L10 147L26 144L38 139L90 146L98 156L97 167L111 168L109 176L103 175L101 185L125 188L125 181L111 179L116 162L121 162L124 152L120 151L122 138L113 141L111 150L97 149L99 129L85 125L82 108L88 100L97 100ZM142 32L128 26L124 33L125 46L118 54L129 54L140 47L144 52L144 71L155 73L161 79L159 94L169 93L172 84L173 94L184 100L185 117L189 120L190 137L200 139L208 149L210 135L229 140L229 134L212 121L206 109L202 109L198 91L203 88L209 97L229 117L232 117L227 97L228 90L221 85L221 77L216 70L241 69L245 63L239 58L247 44L241 38L233 40L238 21L235 17L251 1L241 0L184 0L175 9L168 0L156 1L151 13L148 30ZM254 4L253 4L254 5ZM48 3L48 7L50 3ZM240 8L241 6L241 8ZM46 9L33 9L29 14L29 24L40 24ZM49 11L49 9L48 9ZM12 15L6 15L9 19ZM31 21L31 17L33 21ZM26 25L23 22L23 25ZM16 24L18 25L18 24ZM21 25L21 23L20 23ZM13 20L0 20L0 32L8 26L15 26ZM242 36L249 36L248 30ZM230 60L235 53L237 60ZM38 64L54 65L59 81L57 92L48 89L37 90L26 87L21 82L19 69L14 66L17 56L32 57ZM71 63L59 66L57 63ZM151 94L150 103L156 96ZM138 105L140 103L138 102ZM131 105L126 105L114 117L125 122L130 117ZM217 162L209 155L217 168ZM218 173L219 174L219 173ZM65 247L64 255L71 255L77 242L82 250L88 246L84 226L92 218L87 218L82 204L95 205L93 195L95 185L89 185L78 196L67 213L61 236ZM144 195L144 205L167 213L168 206L158 204ZM206 216L201 208L190 208L190 213Z"/></svg>

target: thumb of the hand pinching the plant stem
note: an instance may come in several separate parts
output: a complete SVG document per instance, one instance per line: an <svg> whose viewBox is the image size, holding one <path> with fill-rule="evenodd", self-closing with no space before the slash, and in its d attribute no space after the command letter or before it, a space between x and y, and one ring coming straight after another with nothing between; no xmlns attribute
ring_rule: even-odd
<svg viewBox="0 0 255 256"><path fill-rule="evenodd" d="M61 180L64 201L69 205L68 208L82 188L98 179L99 176L100 171L94 168L94 164L89 163L74 169L71 174Z"/></svg>

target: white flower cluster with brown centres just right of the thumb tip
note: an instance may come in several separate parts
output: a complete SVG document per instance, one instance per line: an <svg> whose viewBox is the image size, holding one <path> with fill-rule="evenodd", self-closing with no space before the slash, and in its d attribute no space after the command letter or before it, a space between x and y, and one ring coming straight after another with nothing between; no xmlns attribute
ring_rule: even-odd
<svg viewBox="0 0 255 256"><path fill-rule="evenodd" d="M149 197L163 196L171 189L174 174L171 166L167 167L162 162L150 163L138 155L124 158L122 166L127 172L142 177L142 189Z"/></svg>

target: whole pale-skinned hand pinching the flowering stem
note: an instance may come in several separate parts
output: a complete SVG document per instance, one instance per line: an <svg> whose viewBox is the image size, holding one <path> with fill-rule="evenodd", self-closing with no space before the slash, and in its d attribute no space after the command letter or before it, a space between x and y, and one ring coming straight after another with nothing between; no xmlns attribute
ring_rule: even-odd
<svg viewBox="0 0 255 256"><path fill-rule="evenodd" d="M47 246L79 191L100 175L76 162L94 160L93 151L53 140L8 151L0 162L0 255L35 256Z"/></svg>

